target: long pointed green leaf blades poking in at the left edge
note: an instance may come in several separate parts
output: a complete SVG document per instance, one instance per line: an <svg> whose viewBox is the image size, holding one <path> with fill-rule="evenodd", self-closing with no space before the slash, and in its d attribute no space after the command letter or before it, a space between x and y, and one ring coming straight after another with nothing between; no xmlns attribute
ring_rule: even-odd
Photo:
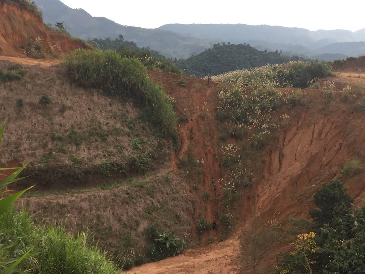
<svg viewBox="0 0 365 274"><path fill-rule="evenodd" d="M1 123L1 125L0 125L0 144L1 144L1 139L3 137L6 121L7 121L7 119L5 119L5 121L3 123ZM22 172L22 170L24 170L24 168L27 167L28 164L29 164L29 162L27 164L23 165L22 167L0 168L0 175L5 176L5 179L2 182L0 182L0 191L2 189L4 189L6 186L8 186L9 184L26 178L26 177L22 177L22 178L16 178L16 177L20 174L20 172ZM15 171L11 175L6 176L6 175L1 173L5 170L15 170ZM5 190L5 191L0 192L0 237L4 234L8 233L8 232L16 230L15 228L14 229L3 229L4 220L5 220L5 218L7 218L9 210L13 206L14 202L24 192L31 189L32 187L34 187L34 186L28 187L25 190L19 191L18 193L15 193L15 194L12 194L12 195L8 195L6 197L4 197L3 194L7 193L9 190ZM5 245L5 246L0 245L0 252L6 250L8 248L11 248L11 247L13 247L13 245ZM0 269L3 269L3 271L0 271L0 273L3 273L3 274L10 274L10 273L14 273L14 272L16 272L16 273L27 273L27 272L24 272L24 271L16 270L15 267L20 262L22 262L22 260L24 258L27 258L28 256L31 256L31 255L35 255L35 254L30 254L30 252L32 251L33 248L28 250L20 258L12 258L12 259L4 260L4 261L3 261L3 258L0 258Z"/></svg>

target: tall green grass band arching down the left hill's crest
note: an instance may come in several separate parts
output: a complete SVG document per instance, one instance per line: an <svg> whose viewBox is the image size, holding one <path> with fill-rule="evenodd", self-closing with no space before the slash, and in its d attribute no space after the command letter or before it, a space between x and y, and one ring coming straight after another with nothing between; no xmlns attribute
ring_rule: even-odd
<svg viewBox="0 0 365 274"><path fill-rule="evenodd" d="M123 58L113 50L77 49L65 63L70 79L78 85L136 99L165 133L176 132L177 121L168 95L149 78L138 60Z"/></svg>

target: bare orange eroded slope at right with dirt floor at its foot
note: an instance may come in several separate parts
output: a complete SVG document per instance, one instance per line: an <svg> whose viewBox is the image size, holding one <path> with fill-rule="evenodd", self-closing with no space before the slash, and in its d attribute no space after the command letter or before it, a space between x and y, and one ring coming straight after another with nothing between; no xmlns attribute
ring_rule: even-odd
<svg viewBox="0 0 365 274"><path fill-rule="evenodd" d="M310 96L314 101L321 97L318 92ZM276 145L266 148L264 176L251 187L250 198L243 197L239 205L239 229L236 227L236 233L230 239L136 267L128 273L238 273L239 233L241 229L249 231L254 217L261 216L262 220L282 224L289 216L308 217L309 209L314 207L312 195L324 182L338 178L344 161L365 148L364 114L354 114L353 108L348 106L323 113L318 104L313 103L289 121L289 125L278 132ZM189 130L190 134L199 136L202 129L192 126ZM210 165L211 161L207 163ZM214 167L206 169L209 173ZM363 179L359 177L345 182L356 204L364 201ZM273 251L271 258L277 254ZM250 271L247 269L247 273Z"/></svg>

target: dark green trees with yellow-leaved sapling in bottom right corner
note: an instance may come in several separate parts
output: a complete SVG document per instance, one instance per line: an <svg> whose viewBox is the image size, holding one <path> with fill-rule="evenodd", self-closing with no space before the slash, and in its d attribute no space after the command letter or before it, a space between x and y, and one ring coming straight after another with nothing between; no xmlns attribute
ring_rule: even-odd
<svg viewBox="0 0 365 274"><path fill-rule="evenodd" d="M314 195L314 219L281 254L276 273L363 273L365 207L351 209L353 199L341 181L324 184Z"/></svg>

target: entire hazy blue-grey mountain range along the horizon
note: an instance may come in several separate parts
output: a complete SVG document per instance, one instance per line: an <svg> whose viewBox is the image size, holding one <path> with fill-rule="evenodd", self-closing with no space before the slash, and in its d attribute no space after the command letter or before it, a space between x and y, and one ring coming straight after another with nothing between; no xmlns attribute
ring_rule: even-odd
<svg viewBox="0 0 365 274"><path fill-rule="evenodd" d="M281 50L300 57L331 58L365 54L365 28L358 31L317 30L246 24L166 24L155 29L123 26L104 17L92 17L59 0L35 0L45 23L64 22L82 39L116 38L119 34L139 47L150 47L166 57L187 58L217 42L248 43L259 50Z"/></svg>

